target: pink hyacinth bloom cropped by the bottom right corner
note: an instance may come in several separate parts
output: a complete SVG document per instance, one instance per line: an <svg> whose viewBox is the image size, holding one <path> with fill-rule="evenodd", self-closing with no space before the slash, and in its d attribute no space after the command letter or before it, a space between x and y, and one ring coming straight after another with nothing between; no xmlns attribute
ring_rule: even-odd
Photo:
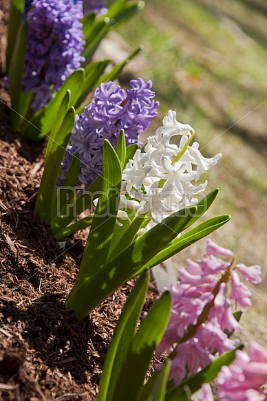
<svg viewBox="0 0 267 401"><path fill-rule="evenodd" d="M249 348L250 356L237 350L233 365L222 367L217 376L218 401L267 400L267 389L261 389L267 382L267 349L255 341L250 341ZM202 389L202 401L213 401L209 384Z"/></svg>

